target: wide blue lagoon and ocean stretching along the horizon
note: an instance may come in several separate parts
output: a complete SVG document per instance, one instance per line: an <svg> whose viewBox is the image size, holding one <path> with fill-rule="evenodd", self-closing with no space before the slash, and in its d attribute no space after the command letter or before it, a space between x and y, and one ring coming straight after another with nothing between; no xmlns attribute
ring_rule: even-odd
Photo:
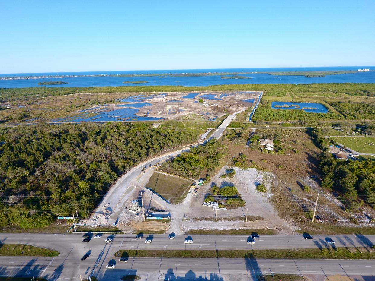
<svg viewBox="0 0 375 281"><path fill-rule="evenodd" d="M189 70L144 70L144 71L97 71L97 72L59 72L59 73L13 73L0 74L4 76L52 76L52 75L100 75L100 74L162 74L162 73L202 73L202 72L288 72L288 71L317 71L317 70L357 70L375 69L375 66L350 67L289 67L289 68L247 68L247 69L189 69ZM252 79L221 79L221 75L186 76L186 77L72 77L72 78L38 78L0 80L0 88L42 87L38 82L64 81L69 84L51 85L46 87L105 87L105 86L209 86L223 84L301 84L301 83L375 83L375 71L349 74L327 75L326 77L305 78L296 75L269 75L261 73L241 74ZM124 81L147 81L144 84L124 84Z"/></svg>

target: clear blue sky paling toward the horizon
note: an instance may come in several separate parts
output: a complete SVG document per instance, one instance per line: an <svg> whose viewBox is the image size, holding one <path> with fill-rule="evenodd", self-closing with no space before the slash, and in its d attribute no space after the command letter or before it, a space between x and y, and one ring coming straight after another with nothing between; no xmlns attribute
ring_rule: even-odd
<svg viewBox="0 0 375 281"><path fill-rule="evenodd" d="M375 65L375 1L0 0L0 73Z"/></svg>

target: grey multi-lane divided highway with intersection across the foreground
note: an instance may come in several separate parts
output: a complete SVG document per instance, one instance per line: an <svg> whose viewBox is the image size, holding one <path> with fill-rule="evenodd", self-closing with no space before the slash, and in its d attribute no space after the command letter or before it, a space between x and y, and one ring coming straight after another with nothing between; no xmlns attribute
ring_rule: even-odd
<svg viewBox="0 0 375 281"><path fill-rule="evenodd" d="M229 249L287 249L331 247L326 236L314 236L305 240L302 235L281 236L261 235L256 243L249 245L248 236L243 235L193 235L193 244L184 244L187 236L176 236L168 239L167 235L154 235L153 242L146 244L145 235L136 239L135 235L116 235L112 242L105 242L110 235L100 239L92 238L90 242L82 242L81 234L0 234L1 243L29 244L60 251L57 257L0 257L0 276L40 276L47 280L77 279L91 274L101 280L118 280L126 274L137 274L143 280L249 280L262 272L295 273L295 274L366 274L375 272L374 261L371 260L293 260L293 259L163 259L132 258L127 263L120 263L114 256L118 250L229 250ZM328 237L327 237L328 238ZM336 247L372 246L375 236L340 235L329 236L335 240ZM166 247L165 247L166 246ZM81 261L81 257L89 257ZM115 269L107 269L108 263L115 263ZM242 276L234 279L231 274ZM195 277L193 277L195 276ZM184 279L181 279L184 278ZM195 278L195 279L194 279ZM216 279L215 279L216 278ZM223 278L223 279L221 279ZM247 279L246 279L247 278ZM202 279L201 279L202 280Z"/></svg>

